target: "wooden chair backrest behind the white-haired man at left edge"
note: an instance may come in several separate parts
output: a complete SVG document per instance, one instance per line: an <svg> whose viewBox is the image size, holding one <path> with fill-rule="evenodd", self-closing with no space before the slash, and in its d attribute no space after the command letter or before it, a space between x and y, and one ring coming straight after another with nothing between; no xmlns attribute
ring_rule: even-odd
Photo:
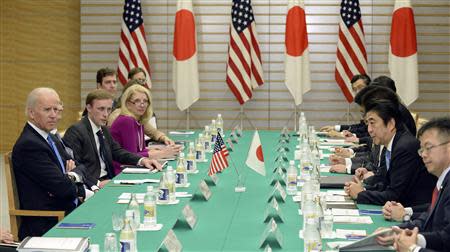
<svg viewBox="0 0 450 252"><path fill-rule="evenodd" d="M9 222L11 225L11 233L17 238L17 233L20 226L20 216L12 214L16 210L20 209L19 194L17 192L16 178L14 176L14 169L11 162L11 152L8 152L4 156L5 158L5 179L6 188L8 193L8 209L9 209Z"/></svg>

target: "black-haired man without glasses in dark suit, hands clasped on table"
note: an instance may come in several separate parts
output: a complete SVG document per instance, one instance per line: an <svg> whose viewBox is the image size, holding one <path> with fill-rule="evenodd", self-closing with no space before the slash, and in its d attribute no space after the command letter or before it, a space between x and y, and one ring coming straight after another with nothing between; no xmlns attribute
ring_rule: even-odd
<svg viewBox="0 0 450 252"><path fill-rule="evenodd" d="M365 109L374 144L386 148L386 185L383 191L364 190L362 181L355 179L346 183L345 191L362 204L384 205L391 200L413 206L429 202L436 179L427 173L417 154L419 142L404 129L398 103L374 99Z"/></svg>

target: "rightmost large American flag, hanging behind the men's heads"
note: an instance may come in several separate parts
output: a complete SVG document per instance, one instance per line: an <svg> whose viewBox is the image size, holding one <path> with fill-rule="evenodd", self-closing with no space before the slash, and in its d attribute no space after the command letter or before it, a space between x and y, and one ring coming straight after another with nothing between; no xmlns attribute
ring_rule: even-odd
<svg viewBox="0 0 450 252"><path fill-rule="evenodd" d="M359 1L342 0L334 76L349 103L353 101L350 80L356 74L367 74L367 53L364 44Z"/></svg>

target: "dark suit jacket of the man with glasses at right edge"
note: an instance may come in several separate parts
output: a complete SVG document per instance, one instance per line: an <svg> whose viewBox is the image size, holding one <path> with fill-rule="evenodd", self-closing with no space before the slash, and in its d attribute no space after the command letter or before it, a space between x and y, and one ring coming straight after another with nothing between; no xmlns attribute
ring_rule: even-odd
<svg viewBox="0 0 450 252"><path fill-rule="evenodd" d="M436 205L414 221L403 223L402 228L418 227L427 241L427 248L450 251L450 173L445 176Z"/></svg>

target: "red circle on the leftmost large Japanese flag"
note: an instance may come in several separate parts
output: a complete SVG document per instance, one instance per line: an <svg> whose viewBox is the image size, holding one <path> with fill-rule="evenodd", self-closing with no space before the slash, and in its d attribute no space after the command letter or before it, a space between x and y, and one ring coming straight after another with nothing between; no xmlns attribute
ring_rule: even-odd
<svg viewBox="0 0 450 252"><path fill-rule="evenodd" d="M173 56L177 60L187 60L195 54L197 48L195 45L195 20L192 12L185 9L177 12L173 40Z"/></svg>

